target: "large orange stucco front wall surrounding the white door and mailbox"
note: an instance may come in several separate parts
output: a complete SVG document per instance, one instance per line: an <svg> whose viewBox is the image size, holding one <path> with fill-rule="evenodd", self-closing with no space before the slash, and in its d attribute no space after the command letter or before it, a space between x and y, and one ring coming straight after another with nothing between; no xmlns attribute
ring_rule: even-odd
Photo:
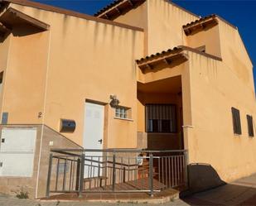
<svg viewBox="0 0 256 206"><path fill-rule="evenodd" d="M104 145L136 147L137 78L134 60L143 55L143 32L17 4L11 4L11 7L46 22L51 28L31 36L12 37L15 58L8 67L10 79L14 81L29 76L32 82L20 79L15 82L15 87L7 85L11 90L6 91L9 97L5 101L13 99L12 95L16 98L14 103L3 108L10 112L9 122L19 123L24 119L27 119L26 123L38 122L37 116L33 115L42 112L42 123L59 131L60 118L74 119L75 132L64 135L81 145L85 99L108 104L109 95L116 94L121 106L132 108L133 121L115 119L114 108L105 107L108 125L104 128L104 135L108 140ZM22 46L27 52L21 50ZM31 60L31 56L35 58ZM11 74L12 70L17 72L20 68L23 69L21 75L15 75L14 71ZM36 79L38 76L46 79L45 85ZM27 102L26 107L32 108L28 99L31 95L38 95L37 90L31 88L32 84L45 86L35 87L42 94L35 98L38 101L35 109L17 107L17 103ZM11 111L15 111L15 115Z"/></svg>

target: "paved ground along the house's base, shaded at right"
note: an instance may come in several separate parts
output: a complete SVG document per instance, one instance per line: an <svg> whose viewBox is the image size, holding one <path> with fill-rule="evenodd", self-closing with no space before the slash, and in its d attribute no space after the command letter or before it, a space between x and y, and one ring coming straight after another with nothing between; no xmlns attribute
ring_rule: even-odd
<svg viewBox="0 0 256 206"><path fill-rule="evenodd" d="M34 200L16 199L0 194L1 206L149 206L157 204L93 204L83 202L38 202ZM187 205L252 205L256 206L256 174L237 180L231 184L216 189L193 194L185 199L176 199L162 206L187 206Z"/></svg>

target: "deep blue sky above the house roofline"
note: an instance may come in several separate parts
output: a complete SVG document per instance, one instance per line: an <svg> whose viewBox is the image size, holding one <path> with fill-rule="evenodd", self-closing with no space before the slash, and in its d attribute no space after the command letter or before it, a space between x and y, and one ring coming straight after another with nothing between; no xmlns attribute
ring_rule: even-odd
<svg viewBox="0 0 256 206"><path fill-rule="evenodd" d="M36 0L57 7L64 7L93 15L111 0ZM216 13L228 22L239 27L239 33L249 51L249 55L256 66L256 0L173 0L176 4L202 17ZM254 72L256 82L256 72Z"/></svg>

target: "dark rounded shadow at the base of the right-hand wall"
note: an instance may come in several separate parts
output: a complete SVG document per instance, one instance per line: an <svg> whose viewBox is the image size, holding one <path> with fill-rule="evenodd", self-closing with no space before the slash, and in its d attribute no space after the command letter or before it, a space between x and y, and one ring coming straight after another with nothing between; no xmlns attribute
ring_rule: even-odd
<svg viewBox="0 0 256 206"><path fill-rule="evenodd" d="M194 194L206 189L213 189L226 184L220 179L216 170L209 164L194 163L188 165L188 186L189 189L181 193L181 197Z"/></svg>

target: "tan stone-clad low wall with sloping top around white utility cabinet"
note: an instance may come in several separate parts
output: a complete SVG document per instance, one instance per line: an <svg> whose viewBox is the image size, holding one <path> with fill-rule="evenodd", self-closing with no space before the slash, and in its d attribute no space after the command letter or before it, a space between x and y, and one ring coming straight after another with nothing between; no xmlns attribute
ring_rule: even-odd
<svg viewBox="0 0 256 206"><path fill-rule="evenodd" d="M60 133L45 125L2 125L2 128L36 128L36 148L34 153L33 174L31 177L0 176L0 191L3 194L16 195L22 189L29 198L37 199L46 196L46 180L48 174L51 148L78 149L81 146L70 141ZM15 163L14 163L15 164ZM54 170L54 169L53 169Z"/></svg>

